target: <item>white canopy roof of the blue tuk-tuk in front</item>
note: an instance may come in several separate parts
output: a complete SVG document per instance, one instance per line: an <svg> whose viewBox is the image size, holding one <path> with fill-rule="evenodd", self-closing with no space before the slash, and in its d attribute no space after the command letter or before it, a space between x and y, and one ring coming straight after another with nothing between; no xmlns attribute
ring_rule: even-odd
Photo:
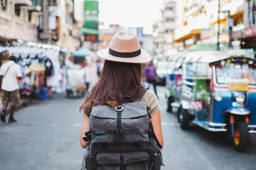
<svg viewBox="0 0 256 170"><path fill-rule="evenodd" d="M185 54L186 58L183 63L193 63L193 62L201 62L201 63L211 63L214 61L218 61L221 59L229 58L230 55L224 51L210 51L210 50L202 50L202 51L192 51Z"/></svg>

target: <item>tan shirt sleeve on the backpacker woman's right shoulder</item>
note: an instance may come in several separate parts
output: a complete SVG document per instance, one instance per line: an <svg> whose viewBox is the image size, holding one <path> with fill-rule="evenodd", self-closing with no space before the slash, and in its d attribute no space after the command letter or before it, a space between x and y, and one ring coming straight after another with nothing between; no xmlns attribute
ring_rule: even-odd
<svg viewBox="0 0 256 170"><path fill-rule="evenodd" d="M147 90L145 92L145 94L140 99L140 102L145 102L146 105L151 108L151 111L149 111L150 115L160 111L160 104L158 102L157 96L151 90Z"/></svg>

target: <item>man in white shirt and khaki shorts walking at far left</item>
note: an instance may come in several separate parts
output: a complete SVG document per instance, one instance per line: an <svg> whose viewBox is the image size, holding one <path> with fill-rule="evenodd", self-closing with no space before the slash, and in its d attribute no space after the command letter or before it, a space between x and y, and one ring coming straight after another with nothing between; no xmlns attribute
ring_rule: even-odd
<svg viewBox="0 0 256 170"><path fill-rule="evenodd" d="M13 115L16 105L20 103L20 92L18 79L22 77L21 68L16 63L16 57L9 57L9 62L4 63L0 68L0 87L3 90L3 113L1 113L1 121L6 121L6 108L11 104L9 123L17 122Z"/></svg>

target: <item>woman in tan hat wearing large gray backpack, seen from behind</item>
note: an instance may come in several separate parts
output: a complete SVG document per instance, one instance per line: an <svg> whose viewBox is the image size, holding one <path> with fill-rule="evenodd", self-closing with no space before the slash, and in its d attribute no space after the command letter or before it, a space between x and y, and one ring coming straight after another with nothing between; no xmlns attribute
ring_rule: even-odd
<svg viewBox="0 0 256 170"><path fill-rule="evenodd" d="M141 63L150 61L150 54L140 48L135 34L124 31L114 34L110 48L97 54L106 59L102 75L80 107L80 143L86 148L82 170L160 170L160 105L141 85Z"/></svg>

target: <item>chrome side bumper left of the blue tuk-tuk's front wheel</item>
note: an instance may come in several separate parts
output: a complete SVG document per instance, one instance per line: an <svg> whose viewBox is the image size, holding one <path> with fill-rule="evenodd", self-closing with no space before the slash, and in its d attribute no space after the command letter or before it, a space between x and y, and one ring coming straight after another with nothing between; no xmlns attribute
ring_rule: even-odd
<svg viewBox="0 0 256 170"><path fill-rule="evenodd" d="M206 130L212 131L212 132L226 132L227 129L225 129L226 125L225 123L213 123L213 122L199 122L199 121L192 121L195 125L198 125L200 127L203 127Z"/></svg>

